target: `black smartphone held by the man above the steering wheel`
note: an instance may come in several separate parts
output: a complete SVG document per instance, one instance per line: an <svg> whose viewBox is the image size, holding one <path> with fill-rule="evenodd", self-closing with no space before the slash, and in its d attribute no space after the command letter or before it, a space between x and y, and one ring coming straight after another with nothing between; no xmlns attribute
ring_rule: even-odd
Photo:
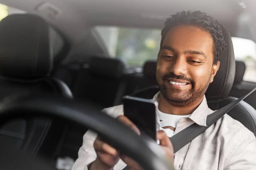
<svg viewBox="0 0 256 170"><path fill-rule="evenodd" d="M141 136L145 134L156 141L157 102L132 96L123 97L124 115L140 130Z"/></svg>

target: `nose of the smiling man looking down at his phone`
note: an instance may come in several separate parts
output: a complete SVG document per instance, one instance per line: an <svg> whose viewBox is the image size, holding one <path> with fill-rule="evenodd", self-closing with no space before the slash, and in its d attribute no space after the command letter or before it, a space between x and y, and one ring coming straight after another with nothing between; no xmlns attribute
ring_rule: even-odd
<svg viewBox="0 0 256 170"><path fill-rule="evenodd" d="M175 61L172 62L171 71L175 75L183 74L185 75L187 73L187 65L186 65L186 59L184 57L177 57Z"/></svg>

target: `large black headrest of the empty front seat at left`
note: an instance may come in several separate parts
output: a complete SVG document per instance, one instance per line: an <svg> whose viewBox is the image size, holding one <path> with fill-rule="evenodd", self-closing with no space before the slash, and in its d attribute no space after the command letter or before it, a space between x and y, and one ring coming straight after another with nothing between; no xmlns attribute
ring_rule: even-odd
<svg viewBox="0 0 256 170"><path fill-rule="evenodd" d="M43 77L52 69L49 26L33 14L12 14L0 22L0 74Z"/></svg>

